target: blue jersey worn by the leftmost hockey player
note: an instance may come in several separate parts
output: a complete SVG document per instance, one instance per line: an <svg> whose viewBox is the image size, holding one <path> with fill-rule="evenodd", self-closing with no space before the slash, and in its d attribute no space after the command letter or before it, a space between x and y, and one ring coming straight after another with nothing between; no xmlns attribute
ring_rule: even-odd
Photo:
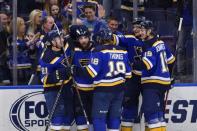
<svg viewBox="0 0 197 131"><path fill-rule="evenodd" d="M70 56L70 50L68 44L64 47L64 52L67 55L67 58ZM65 60L67 59L64 56L63 51L55 52L49 48L45 48L41 54L39 64L41 65L41 81L43 87L57 87L62 84L61 79L59 78L58 70L65 69ZM71 80L71 77L68 77L64 80L64 84L67 84Z"/></svg>

